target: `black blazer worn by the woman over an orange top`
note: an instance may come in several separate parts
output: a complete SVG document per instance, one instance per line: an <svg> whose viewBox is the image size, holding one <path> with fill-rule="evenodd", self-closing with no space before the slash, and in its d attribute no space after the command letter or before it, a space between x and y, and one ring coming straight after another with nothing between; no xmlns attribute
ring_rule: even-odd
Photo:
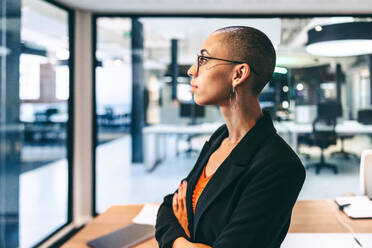
<svg viewBox="0 0 372 248"><path fill-rule="evenodd" d="M207 141L185 178L191 242L215 248L279 248L293 205L305 180L295 152L276 133L268 113L241 139L212 176L192 211L192 194L210 155L228 136L221 126ZM156 221L160 248L187 238L172 210L173 194L161 204Z"/></svg>

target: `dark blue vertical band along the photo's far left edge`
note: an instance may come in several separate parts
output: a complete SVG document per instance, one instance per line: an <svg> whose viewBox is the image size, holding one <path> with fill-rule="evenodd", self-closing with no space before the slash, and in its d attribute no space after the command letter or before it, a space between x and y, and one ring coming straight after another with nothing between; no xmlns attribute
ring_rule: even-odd
<svg viewBox="0 0 372 248"><path fill-rule="evenodd" d="M0 7L0 247L19 246L19 174L23 127L19 112L19 0Z"/></svg>

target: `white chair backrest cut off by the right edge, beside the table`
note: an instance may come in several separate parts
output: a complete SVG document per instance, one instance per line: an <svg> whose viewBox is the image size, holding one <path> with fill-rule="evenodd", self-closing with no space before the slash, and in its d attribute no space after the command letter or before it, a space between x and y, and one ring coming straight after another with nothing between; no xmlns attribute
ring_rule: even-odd
<svg viewBox="0 0 372 248"><path fill-rule="evenodd" d="M362 152L360 159L360 192L372 199L372 150Z"/></svg>

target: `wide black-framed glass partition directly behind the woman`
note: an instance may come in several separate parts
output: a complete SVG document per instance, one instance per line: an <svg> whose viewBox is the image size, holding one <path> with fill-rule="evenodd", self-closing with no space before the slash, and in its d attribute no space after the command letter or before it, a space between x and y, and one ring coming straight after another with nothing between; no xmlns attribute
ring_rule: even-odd
<svg viewBox="0 0 372 248"><path fill-rule="evenodd" d="M308 31L315 27L368 21L368 18L140 17L135 20L138 24L135 30L131 30L129 18L97 18L96 57L99 62L96 68L96 112L99 132L95 166L98 212L113 204L161 202L162 197L175 190L179 180L191 170L203 143L213 132L211 129L209 133L199 135L180 133L179 130L191 130L190 126L195 125L217 128L223 123L218 108L193 104L187 75L203 40L218 28L252 26L266 33L273 42L277 52L275 72L260 95L260 104L270 112L279 134L300 155L305 166L320 160L319 148L311 144L309 135L321 103L337 101L337 107L341 106L341 111L338 109L335 113L338 123L346 126L359 125L358 112L371 108L368 55L320 56L309 53L306 45ZM142 44L138 45L142 38ZM137 47L130 51L131 42L137 42ZM141 45L143 48L138 49ZM112 54L111 64L105 64L104 54ZM142 64L138 67L131 65L123 59L126 54L141 56ZM100 70L105 66L111 68L106 69L110 75L102 77ZM136 73L143 76L140 80L143 109L137 109L136 113L130 112L130 107L128 109L131 116L143 115L142 164L131 161L132 154L138 151L132 150L133 136L130 132L122 136L126 143L124 139L116 138L119 135L110 135L107 142L102 139L104 121L109 123L104 118L112 118L115 111L105 110L101 99L120 99L128 106L140 101L132 98L136 92L130 92L134 89L133 85L138 84L138 78L131 78ZM126 85L125 89L117 85L119 81ZM112 119L120 120L119 117ZM111 120L111 123L110 128L113 129L114 121ZM167 135L161 133L161 128L168 132ZM175 131L172 133L171 130ZM293 133L293 130L307 131ZM326 150L326 160L337 164L340 175L327 170L316 175L314 170L309 169L300 199L358 193L359 160L355 158L371 146L368 135L354 133L343 137L339 134L337 143ZM108 137L107 134L105 136ZM151 148L148 149L148 146ZM356 156L339 156L339 151L355 153ZM319 187L322 190L317 190Z"/></svg>

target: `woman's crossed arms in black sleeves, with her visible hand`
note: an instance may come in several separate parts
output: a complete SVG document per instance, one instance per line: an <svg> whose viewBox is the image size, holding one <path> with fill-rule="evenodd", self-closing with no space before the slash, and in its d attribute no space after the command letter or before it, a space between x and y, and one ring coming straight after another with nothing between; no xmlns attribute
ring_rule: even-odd
<svg viewBox="0 0 372 248"><path fill-rule="evenodd" d="M283 167L261 170L250 180L232 209L229 222L213 241L214 248L280 246L305 177L303 168ZM160 248L210 247L189 238L186 187L183 183L178 192L166 196L159 209L156 239Z"/></svg>

